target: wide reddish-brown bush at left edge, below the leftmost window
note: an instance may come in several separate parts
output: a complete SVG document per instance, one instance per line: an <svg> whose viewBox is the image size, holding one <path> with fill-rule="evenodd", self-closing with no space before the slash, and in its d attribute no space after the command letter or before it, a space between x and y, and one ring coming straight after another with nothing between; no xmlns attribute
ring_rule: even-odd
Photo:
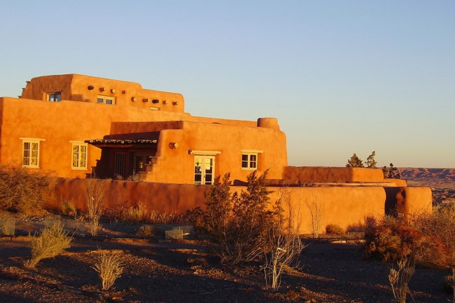
<svg viewBox="0 0 455 303"><path fill-rule="evenodd" d="M0 166L0 209L36 212L52 194L52 179L41 171L14 165Z"/></svg>

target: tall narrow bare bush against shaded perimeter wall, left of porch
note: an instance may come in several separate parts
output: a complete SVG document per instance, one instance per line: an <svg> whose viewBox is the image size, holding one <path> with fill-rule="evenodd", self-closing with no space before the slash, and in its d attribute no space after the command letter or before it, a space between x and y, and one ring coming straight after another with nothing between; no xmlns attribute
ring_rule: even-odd
<svg viewBox="0 0 455 303"><path fill-rule="evenodd" d="M104 180L87 179L87 216L89 220L89 232L92 236L96 236L101 227L99 219L103 213L103 203L106 195L104 183Z"/></svg>

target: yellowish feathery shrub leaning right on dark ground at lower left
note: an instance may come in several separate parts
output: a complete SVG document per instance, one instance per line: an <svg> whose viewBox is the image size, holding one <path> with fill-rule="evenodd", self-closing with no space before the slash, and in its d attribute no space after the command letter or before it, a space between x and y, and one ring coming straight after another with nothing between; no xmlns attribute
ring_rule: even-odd
<svg viewBox="0 0 455 303"><path fill-rule="evenodd" d="M31 259L25 261L25 267L34 268L39 261L54 258L70 247L72 236L69 236L62 223L57 221L41 230L40 235L29 236L31 245Z"/></svg>

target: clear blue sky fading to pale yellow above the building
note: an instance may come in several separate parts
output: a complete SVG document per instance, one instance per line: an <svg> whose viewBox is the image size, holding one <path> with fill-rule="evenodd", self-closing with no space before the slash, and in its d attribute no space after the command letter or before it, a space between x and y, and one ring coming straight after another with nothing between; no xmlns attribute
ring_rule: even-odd
<svg viewBox="0 0 455 303"><path fill-rule="evenodd" d="M290 165L455 167L452 0L0 0L0 96L59 73L276 117Z"/></svg>

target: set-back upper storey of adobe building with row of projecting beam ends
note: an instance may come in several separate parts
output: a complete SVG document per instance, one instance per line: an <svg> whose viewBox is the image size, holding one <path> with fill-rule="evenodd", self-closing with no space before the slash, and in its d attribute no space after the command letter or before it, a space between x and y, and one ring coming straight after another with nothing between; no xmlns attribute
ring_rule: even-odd
<svg viewBox="0 0 455 303"><path fill-rule="evenodd" d="M22 98L46 100L45 92L62 91L62 100L97 102L97 96L115 97L116 105L183 113L182 94L144 90L139 83L78 74L41 76L27 81Z"/></svg>

